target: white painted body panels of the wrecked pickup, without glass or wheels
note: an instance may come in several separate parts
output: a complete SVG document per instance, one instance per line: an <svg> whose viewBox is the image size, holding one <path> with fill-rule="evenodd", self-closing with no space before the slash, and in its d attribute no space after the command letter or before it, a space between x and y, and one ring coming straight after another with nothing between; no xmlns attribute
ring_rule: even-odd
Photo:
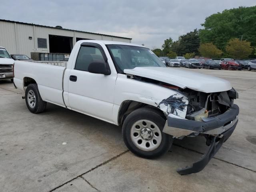
<svg viewBox="0 0 256 192"><path fill-rule="evenodd" d="M74 70L76 57L83 42L94 42L102 46L111 70L109 76ZM44 101L116 125L118 124L118 110L122 102L134 100L157 106L155 103L177 94L171 89L128 79L126 74L118 74L105 44L126 45L122 42L79 41L74 46L66 67L50 66L42 62L15 61L14 83L19 89L24 90L24 77L30 77L38 84ZM232 88L228 81L220 78L171 68L137 67L124 70L124 72L206 93L226 91ZM71 82L68 78L70 75L76 75L78 81ZM178 114L185 118L186 111L179 111Z"/></svg>

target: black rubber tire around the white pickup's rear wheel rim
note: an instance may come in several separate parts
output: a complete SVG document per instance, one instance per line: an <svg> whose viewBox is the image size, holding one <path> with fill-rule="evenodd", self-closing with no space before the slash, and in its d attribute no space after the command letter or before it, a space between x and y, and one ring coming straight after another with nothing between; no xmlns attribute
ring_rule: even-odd
<svg viewBox="0 0 256 192"><path fill-rule="evenodd" d="M29 102L28 94L29 94L30 90L32 90L34 92L34 96L35 96L35 100L36 100L34 107L31 107L30 104L28 104L28 102ZM34 114L41 113L46 109L47 102L42 100L39 90L38 90L38 87L37 87L37 84L29 84L27 86L26 92L25 92L25 100L26 100L26 105L28 107L28 110Z"/></svg>

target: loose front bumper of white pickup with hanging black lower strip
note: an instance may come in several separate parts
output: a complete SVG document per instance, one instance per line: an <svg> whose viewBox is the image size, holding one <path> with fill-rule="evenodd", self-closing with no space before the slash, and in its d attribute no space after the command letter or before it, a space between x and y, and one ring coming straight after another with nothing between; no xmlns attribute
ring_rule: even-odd
<svg viewBox="0 0 256 192"><path fill-rule="evenodd" d="M203 121L194 121L180 118L170 114L167 117L163 132L170 134L175 138L184 136L205 136L206 144L210 148L202 158L192 166L178 169L181 175L200 172L208 164L210 159L218 152L222 144L231 136L238 123L239 107L234 104L225 113L210 117L202 118Z"/></svg>

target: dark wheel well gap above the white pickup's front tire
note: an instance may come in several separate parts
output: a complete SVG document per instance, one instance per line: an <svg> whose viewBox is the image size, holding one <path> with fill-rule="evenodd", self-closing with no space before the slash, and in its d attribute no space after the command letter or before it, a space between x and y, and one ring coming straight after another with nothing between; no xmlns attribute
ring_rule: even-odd
<svg viewBox="0 0 256 192"><path fill-rule="evenodd" d="M157 110L162 114L163 118L166 118L164 115L164 112L155 106L148 105L138 101L126 100L122 102L118 112L118 125L122 126L122 124L124 123L124 120L131 112L142 107L147 107L147 108L152 108L152 110Z"/></svg>

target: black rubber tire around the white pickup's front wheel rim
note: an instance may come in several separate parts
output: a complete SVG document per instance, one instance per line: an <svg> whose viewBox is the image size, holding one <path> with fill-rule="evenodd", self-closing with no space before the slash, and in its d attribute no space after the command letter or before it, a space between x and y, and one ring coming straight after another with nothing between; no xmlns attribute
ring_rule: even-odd
<svg viewBox="0 0 256 192"><path fill-rule="evenodd" d="M154 122L154 124L156 124L160 129L162 140L156 149L151 151L142 150L132 142L130 132L134 123L139 120L149 120ZM172 136L162 132L165 122L166 120L164 119L163 115L154 108L139 108L133 111L126 117L122 126L122 136L124 143L126 144L127 148L137 156L143 158L156 158L162 156L170 149L173 141ZM144 128L141 128L141 130L142 129ZM141 132L141 130L139 132Z"/></svg>

